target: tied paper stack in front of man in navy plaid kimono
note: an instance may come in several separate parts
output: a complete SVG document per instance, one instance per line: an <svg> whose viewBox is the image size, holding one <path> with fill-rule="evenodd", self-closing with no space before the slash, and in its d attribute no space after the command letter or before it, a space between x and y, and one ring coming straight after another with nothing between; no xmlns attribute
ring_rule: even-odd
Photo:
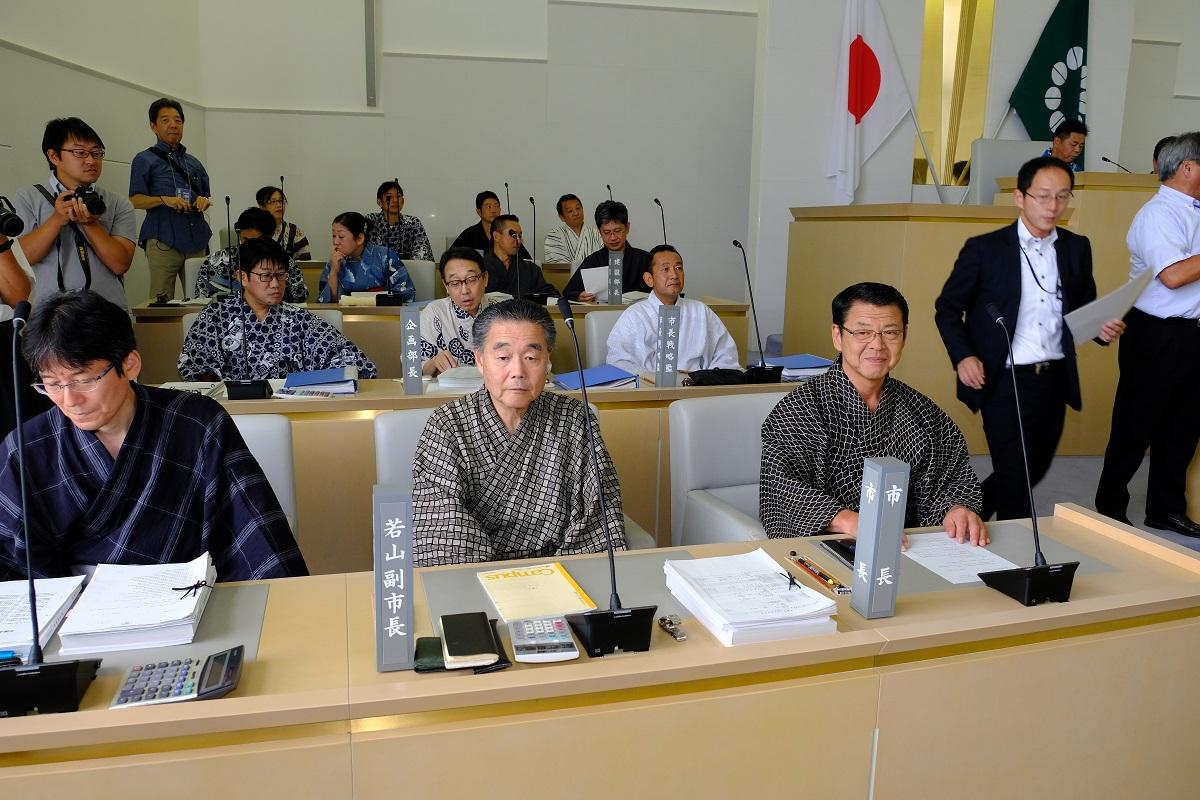
<svg viewBox="0 0 1200 800"><path fill-rule="evenodd" d="M65 656L188 644L216 581L212 558L187 564L101 564L59 631ZM180 591L204 581L209 585Z"/></svg>

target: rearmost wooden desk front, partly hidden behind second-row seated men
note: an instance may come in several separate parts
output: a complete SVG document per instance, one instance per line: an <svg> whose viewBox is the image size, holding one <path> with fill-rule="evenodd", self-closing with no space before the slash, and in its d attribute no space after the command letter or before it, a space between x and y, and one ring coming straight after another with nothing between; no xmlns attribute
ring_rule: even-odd
<svg viewBox="0 0 1200 800"><path fill-rule="evenodd" d="M440 285L440 284L439 284ZM316 296L316 295L313 295ZM730 330L738 345L738 360L745 363L748 303L722 300L720 297L698 297L716 313ZM379 367L380 378L398 378L403 374L400 355L400 307L398 306L340 306L337 303L306 303L307 308L332 308L342 312L342 329L346 337L354 342ZM166 306L152 307L142 303L133 307L133 335L137 338L138 351L142 354L142 380L148 384L161 384L179 380L176 365L179 351L184 348L184 314L200 311L202 306ZM577 319L593 311L622 311L625 306L589 305L572 306ZM575 349L571 347L570 333L563 323L563 317L556 306L547 307L554 329L558 331L558 345L551 360L556 372L574 372L578 368ZM582 321L576 331L580 335L580 350L587 343Z"/></svg>

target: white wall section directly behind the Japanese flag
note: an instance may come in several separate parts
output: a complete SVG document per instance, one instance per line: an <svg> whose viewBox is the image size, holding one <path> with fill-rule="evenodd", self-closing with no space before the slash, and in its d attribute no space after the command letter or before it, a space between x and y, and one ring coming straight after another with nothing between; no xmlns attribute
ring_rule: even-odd
<svg viewBox="0 0 1200 800"><path fill-rule="evenodd" d="M881 7L912 91L920 71L924 1L884 0ZM834 182L826 178L826 167L841 24L841 2L760 4L750 257L764 338L784 330L790 209L833 203ZM856 201L910 199L914 136L910 121L900 124L864 166ZM847 276L847 284L852 282Z"/></svg>

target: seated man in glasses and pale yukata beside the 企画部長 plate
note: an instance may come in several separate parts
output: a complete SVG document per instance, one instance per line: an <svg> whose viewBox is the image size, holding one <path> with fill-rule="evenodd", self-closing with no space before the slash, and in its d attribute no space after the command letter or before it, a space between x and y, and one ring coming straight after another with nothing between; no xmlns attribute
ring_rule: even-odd
<svg viewBox="0 0 1200 800"><path fill-rule="evenodd" d="M487 296L487 270L479 251L451 247L442 253L438 272L446 296L421 308L421 372L431 377L475 365L472 327L479 312L497 302Z"/></svg>

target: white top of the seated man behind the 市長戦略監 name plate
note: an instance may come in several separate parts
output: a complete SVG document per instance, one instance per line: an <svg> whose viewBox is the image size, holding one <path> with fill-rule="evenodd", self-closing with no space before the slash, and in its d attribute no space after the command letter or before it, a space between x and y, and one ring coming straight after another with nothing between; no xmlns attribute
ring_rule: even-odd
<svg viewBox="0 0 1200 800"><path fill-rule="evenodd" d="M659 308L662 301L650 293L617 319L608 333L608 363L634 374L655 371L659 347ZM737 369L738 348L725 324L698 300L679 297L678 368Z"/></svg>

